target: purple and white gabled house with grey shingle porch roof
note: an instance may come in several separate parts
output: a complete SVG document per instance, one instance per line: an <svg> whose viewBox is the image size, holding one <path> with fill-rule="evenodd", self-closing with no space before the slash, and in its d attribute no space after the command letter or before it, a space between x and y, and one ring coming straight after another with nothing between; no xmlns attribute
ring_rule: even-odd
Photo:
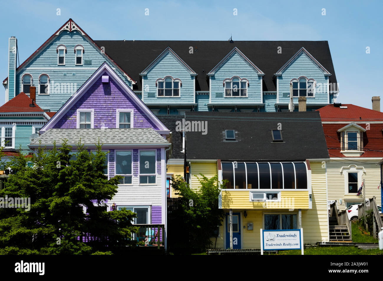
<svg viewBox="0 0 383 281"><path fill-rule="evenodd" d="M100 140L108 151L108 178L123 176L110 210L127 208L142 224L136 239L166 249L166 152L169 129L105 62L69 98L29 147L60 146L63 139L76 149L79 140L95 149ZM75 151L74 151L75 153ZM149 226L148 226L149 225ZM160 241L160 243L158 243Z"/></svg>

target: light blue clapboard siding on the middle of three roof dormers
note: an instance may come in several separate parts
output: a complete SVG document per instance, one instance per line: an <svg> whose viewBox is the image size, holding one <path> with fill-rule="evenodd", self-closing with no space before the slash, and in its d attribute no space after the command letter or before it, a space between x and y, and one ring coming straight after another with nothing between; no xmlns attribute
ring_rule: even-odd
<svg viewBox="0 0 383 281"><path fill-rule="evenodd" d="M255 65L257 62L254 62ZM224 97L223 80L239 76L241 79L249 80L247 89L247 97ZM258 76L257 72L252 69L246 61L237 53L234 53L224 65L211 76L211 103L261 103L261 83L262 76ZM222 97L216 97L216 93L221 93ZM217 94L219 96L219 94Z"/></svg>

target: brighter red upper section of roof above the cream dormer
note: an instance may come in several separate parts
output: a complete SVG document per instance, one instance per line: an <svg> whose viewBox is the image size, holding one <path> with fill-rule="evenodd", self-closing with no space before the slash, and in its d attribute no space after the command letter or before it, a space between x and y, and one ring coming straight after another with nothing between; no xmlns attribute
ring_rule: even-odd
<svg viewBox="0 0 383 281"><path fill-rule="evenodd" d="M342 107L334 107L333 104L317 109L321 114L322 122L364 122L382 121L383 112L355 106L354 104L342 104Z"/></svg>

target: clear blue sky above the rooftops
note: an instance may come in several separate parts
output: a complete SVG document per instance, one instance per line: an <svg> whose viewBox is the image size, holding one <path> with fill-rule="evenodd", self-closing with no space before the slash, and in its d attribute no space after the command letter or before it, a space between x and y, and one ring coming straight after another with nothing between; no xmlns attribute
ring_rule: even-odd
<svg viewBox="0 0 383 281"><path fill-rule="evenodd" d="M72 18L94 40L228 40L230 34L234 41L326 40L338 101L372 108L371 97L381 95L382 8L381 1L7 1L0 12L0 79L7 77L10 36L18 39L22 63Z"/></svg>

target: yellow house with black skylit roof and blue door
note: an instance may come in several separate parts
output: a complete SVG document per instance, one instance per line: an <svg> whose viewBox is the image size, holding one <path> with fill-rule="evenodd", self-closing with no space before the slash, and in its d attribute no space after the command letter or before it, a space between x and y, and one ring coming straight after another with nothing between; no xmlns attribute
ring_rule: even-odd
<svg viewBox="0 0 383 281"><path fill-rule="evenodd" d="M206 135L186 132L190 187L199 188L200 174L227 181L213 247L260 249L260 229L302 227L304 244L329 241L329 156L318 112L234 114L186 116L207 120L208 128Z"/></svg>

